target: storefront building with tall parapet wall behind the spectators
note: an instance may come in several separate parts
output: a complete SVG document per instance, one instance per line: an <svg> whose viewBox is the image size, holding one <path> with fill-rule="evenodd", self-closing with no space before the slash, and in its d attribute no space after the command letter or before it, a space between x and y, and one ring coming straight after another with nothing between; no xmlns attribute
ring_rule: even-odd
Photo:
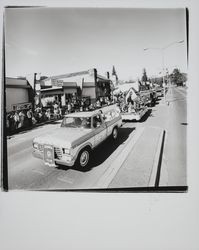
<svg viewBox="0 0 199 250"><path fill-rule="evenodd" d="M40 82L40 86L43 105L46 100L56 101L61 106L67 105L74 97L88 99L90 103L102 97L111 98L113 89L109 74L100 76L96 69L48 77Z"/></svg>

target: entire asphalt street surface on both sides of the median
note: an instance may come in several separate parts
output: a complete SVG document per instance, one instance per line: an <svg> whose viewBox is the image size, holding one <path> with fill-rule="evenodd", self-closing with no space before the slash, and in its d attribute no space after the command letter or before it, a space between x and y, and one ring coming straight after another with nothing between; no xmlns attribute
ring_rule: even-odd
<svg viewBox="0 0 199 250"><path fill-rule="evenodd" d="M8 139L8 183L9 189L54 190L89 189L109 168L120 154L127 139L141 127L160 127L166 130L166 140L161 168L160 185L186 184L186 90L171 88L167 100L149 111L141 122L124 122L115 144L110 139L94 152L92 169L82 172L67 167L49 168L40 159L32 156L32 139L50 133L60 122L43 125L12 136ZM132 184L133 185L133 184Z"/></svg>

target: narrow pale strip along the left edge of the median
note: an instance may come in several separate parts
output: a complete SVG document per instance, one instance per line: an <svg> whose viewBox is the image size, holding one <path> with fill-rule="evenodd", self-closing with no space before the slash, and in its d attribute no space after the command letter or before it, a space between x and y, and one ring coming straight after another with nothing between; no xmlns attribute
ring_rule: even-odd
<svg viewBox="0 0 199 250"><path fill-rule="evenodd" d="M97 181L94 188L108 188L109 184L113 180L113 178L116 176L117 172L119 171L120 167L126 160L127 156L135 146L138 139L141 137L141 135L144 132L144 127L139 128L137 132L132 136L129 136L128 142L126 142L125 146L122 148L122 150L119 152L118 156L113 160L112 163L108 166L106 171L103 173L103 175L100 177L100 179Z"/></svg>

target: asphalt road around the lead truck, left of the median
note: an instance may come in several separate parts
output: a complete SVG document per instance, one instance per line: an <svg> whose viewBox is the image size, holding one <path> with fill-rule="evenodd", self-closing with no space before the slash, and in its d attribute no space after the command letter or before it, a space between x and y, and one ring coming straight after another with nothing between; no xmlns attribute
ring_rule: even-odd
<svg viewBox="0 0 199 250"><path fill-rule="evenodd" d="M111 161L125 145L134 131L134 126L124 126L119 131L115 144L107 139L94 152L92 169L82 172L65 166L49 168L40 159L32 156L32 139L60 124L48 124L32 131L13 136L8 140L8 182L9 189L73 189L91 188L109 167Z"/></svg>

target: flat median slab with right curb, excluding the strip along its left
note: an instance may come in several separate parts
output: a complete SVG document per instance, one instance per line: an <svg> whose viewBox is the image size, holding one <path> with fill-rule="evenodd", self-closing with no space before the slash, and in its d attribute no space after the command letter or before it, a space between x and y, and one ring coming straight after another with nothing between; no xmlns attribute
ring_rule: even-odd
<svg viewBox="0 0 199 250"><path fill-rule="evenodd" d="M108 188L155 186L162 129L145 128Z"/></svg>

